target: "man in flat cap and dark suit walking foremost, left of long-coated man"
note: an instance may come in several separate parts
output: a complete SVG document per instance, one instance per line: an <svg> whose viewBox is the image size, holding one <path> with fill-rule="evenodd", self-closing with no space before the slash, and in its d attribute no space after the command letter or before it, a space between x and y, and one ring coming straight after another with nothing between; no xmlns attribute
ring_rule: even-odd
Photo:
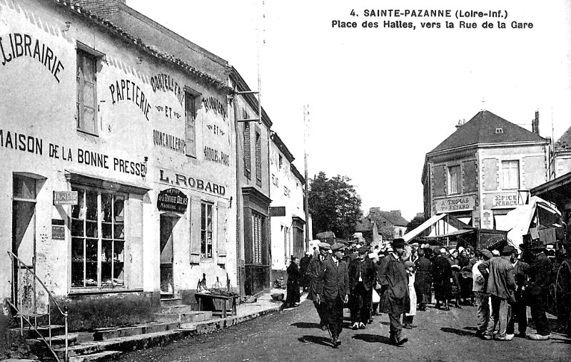
<svg viewBox="0 0 571 362"><path fill-rule="evenodd" d="M315 295L318 303L321 299L325 299L325 314L335 348L341 344L339 333L343 329L343 304L348 302L350 292L347 264L343 262L343 249L345 245L340 243L331 246L333 255L321 265Z"/></svg>

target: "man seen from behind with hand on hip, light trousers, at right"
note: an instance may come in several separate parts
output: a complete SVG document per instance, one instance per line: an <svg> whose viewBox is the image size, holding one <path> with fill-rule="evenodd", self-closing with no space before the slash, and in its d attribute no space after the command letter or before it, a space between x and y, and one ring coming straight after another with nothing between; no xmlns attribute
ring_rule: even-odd
<svg viewBox="0 0 571 362"><path fill-rule="evenodd" d="M500 257L495 257L477 266L484 279L487 279L486 293L492 300L492 317L487 324L484 338L492 338L498 341L511 341L513 334L506 336L507 321L511 317L511 304L515 303L515 277L510 257L514 247L506 245L500 252ZM494 336L495 327L499 331Z"/></svg>

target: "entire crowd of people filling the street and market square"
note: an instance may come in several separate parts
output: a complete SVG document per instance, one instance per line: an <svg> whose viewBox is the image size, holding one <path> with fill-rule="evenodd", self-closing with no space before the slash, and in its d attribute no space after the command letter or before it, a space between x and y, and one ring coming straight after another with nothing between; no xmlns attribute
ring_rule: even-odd
<svg viewBox="0 0 571 362"><path fill-rule="evenodd" d="M431 247L394 239L383 246L320 242L314 253L288 267L287 306L307 291L334 347L340 345L343 309L350 310L350 328L366 329L373 316L387 314L389 343L403 346L403 329L413 329L414 316L430 304L449 311L475 306L476 336L510 341L515 336L549 339L546 296L552 265L545 246L527 240L522 252L507 244L500 249ZM433 291L434 301L433 304ZM527 333L527 306L536 331ZM571 308L569 308L571 309ZM567 313L567 333L571 315ZM571 336L570 336L571 337Z"/></svg>

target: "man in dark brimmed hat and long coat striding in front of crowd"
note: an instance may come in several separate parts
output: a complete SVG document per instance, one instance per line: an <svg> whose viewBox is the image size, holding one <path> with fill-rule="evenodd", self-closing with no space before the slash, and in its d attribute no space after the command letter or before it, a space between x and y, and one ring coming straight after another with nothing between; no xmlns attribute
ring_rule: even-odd
<svg viewBox="0 0 571 362"><path fill-rule="evenodd" d="M383 258L379 267L380 310L388 314L390 320L389 343L396 346L402 346L408 341L408 338L403 338L401 335L403 325L400 323L400 316L410 311L408 276L405 264L400 259L404 252L404 239L394 239L393 252Z"/></svg>

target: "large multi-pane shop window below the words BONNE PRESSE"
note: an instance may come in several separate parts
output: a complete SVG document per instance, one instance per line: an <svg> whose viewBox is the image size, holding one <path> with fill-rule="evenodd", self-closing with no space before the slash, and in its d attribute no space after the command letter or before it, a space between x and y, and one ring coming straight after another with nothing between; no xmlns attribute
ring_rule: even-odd
<svg viewBox="0 0 571 362"><path fill-rule="evenodd" d="M72 187L71 286L110 289L125 286L126 195Z"/></svg>

